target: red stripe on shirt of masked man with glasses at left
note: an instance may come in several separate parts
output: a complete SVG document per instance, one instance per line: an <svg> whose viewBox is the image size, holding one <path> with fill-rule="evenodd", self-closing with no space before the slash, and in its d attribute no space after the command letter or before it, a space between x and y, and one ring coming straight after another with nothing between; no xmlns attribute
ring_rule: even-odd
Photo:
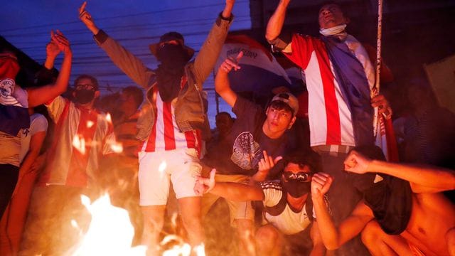
<svg viewBox="0 0 455 256"><path fill-rule="evenodd" d="M97 115L96 111L88 112L87 110L80 110L80 120L77 126L77 134L82 141L85 141L85 152L73 146L73 154L71 154L70 168L68 176L66 177L66 184L68 186L87 186L87 164L90 157L91 144L97 129ZM89 122L92 122L91 125Z"/></svg>

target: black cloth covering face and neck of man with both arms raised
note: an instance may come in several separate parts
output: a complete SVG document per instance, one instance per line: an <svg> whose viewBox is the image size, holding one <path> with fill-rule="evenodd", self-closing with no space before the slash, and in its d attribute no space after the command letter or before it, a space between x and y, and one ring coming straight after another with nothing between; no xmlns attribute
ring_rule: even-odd
<svg viewBox="0 0 455 256"><path fill-rule="evenodd" d="M156 52L161 64L156 70L156 80L161 100L170 102L178 96L183 68L188 62L188 53L181 45L166 43Z"/></svg>

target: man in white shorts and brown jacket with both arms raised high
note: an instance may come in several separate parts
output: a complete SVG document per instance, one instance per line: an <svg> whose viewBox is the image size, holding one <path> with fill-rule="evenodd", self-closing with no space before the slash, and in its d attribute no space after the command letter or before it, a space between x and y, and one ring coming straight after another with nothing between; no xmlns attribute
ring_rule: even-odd
<svg viewBox="0 0 455 256"><path fill-rule="evenodd" d="M180 33L165 33L159 43L151 44L151 53L160 62L156 70L147 68L100 30L85 9L86 2L79 9L80 20L93 33L98 46L129 78L147 90L146 104L137 123L137 139L143 142L139 152L139 203L144 215L141 242L147 245L149 254L159 250L171 181L190 244L196 247L203 243L200 196L193 191L201 169L198 161L201 139L210 134L203 82L220 54L234 3L225 1L225 9L193 62L189 60L194 50L185 45Z"/></svg>

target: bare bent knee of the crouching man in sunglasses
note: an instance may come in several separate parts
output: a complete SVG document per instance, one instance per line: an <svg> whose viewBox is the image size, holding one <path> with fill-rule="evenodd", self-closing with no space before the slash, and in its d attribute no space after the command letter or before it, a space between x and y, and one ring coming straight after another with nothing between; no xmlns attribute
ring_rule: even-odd
<svg viewBox="0 0 455 256"><path fill-rule="evenodd" d="M256 232L257 255L279 256L282 251L283 238L274 226L263 225Z"/></svg>

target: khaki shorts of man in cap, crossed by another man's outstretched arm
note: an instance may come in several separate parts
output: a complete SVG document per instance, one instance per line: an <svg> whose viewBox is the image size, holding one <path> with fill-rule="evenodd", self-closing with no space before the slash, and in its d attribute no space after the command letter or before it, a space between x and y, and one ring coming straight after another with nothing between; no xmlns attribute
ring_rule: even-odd
<svg viewBox="0 0 455 256"><path fill-rule="evenodd" d="M207 177L210 173L208 166L203 166L203 176ZM249 183L250 176L241 174L215 174L215 181L217 182L237 182ZM202 215L205 216L213 204L220 198L220 196L211 193L204 194L202 198ZM255 221L255 210L252 208L251 201L239 202L230 201L226 199L229 207L230 224L235 228L234 220L251 220Z"/></svg>

